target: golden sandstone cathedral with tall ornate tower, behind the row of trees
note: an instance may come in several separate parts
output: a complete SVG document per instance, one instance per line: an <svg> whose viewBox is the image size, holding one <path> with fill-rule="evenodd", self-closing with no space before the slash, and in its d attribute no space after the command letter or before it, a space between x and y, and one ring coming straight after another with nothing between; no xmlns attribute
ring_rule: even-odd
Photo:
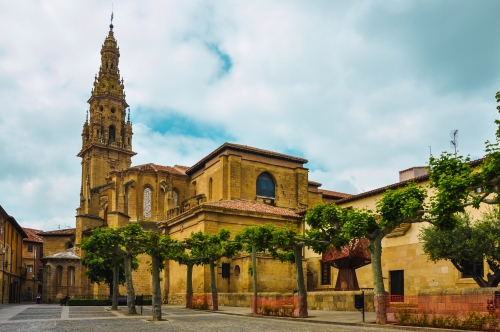
<svg viewBox="0 0 500 332"><path fill-rule="evenodd" d="M267 223L304 227L303 211L321 201L350 196L319 189L320 183L309 181L306 159L233 143L222 144L192 166L132 166L136 155L132 149L133 127L119 58L120 49L110 25L77 154L82 171L76 228L44 232L44 302L55 302L66 295L109 294L106 285L89 282L79 263L82 253L78 244L96 227L137 223L177 239L197 231L216 233L221 228L235 234L245 226ZM135 291L151 294L148 257L139 259L139 269L133 275ZM319 266L320 260L316 257L313 263ZM219 262L219 292L252 292L250 261L242 252ZM259 256L257 264L259 292L288 293L296 287L293 265L266 255ZM310 264L304 260L305 271ZM312 270L307 275L310 287L319 277ZM167 262L162 275L165 303L184 301L185 276L185 266ZM198 294L210 292L208 266L194 268L193 290ZM120 288L120 293L125 294L125 289Z"/></svg>

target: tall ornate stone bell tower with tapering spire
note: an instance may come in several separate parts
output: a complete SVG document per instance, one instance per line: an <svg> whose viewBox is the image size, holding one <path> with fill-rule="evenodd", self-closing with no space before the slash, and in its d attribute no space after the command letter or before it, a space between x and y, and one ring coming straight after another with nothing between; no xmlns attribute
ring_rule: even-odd
<svg viewBox="0 0 500 332"><path fill-rule="evenodd" d="M120 48L114 37L112 20L101 48L101 66L88 100L90 107L83 124L82 148L77 155L82 158L77 217L99 218L99 206L103 203L99 188L107 184L110 171L130 167L131 158L136 154L132 151L130 108L125 101L124 82L118 68Z"/></svg>

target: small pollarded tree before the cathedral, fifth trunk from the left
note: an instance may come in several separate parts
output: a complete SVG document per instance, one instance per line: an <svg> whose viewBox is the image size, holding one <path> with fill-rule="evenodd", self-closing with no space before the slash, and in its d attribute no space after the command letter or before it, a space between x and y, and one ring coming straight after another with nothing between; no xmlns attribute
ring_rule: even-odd
<svg viewBox="0 0 500 332"><path fill-rule="evenodd" d="M204 232L192 233L186 239L191 251L202 259L202 264L208 262L210 266L210 287L212 290L212 310L219 310L219 294L215 285L215 263L222 257L231 258L241 250L238 242L230 241L231 232L227 229L219 230L217 234Z"/></svg>

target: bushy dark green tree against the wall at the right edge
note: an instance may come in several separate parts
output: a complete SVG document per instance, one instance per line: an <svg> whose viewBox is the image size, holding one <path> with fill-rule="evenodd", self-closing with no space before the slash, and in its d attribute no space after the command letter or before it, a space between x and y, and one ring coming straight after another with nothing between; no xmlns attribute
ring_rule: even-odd
<svg viewBox="0 0 500 332"><path fill-rule="evenodd" d="M424 252L431 261L450 261L458 271L471 275L479 287L497 287L500 283L499 238L498 208L484 213L482 219L476 221L468 214L458 215L456 226L451 230L430 226L420 233ZM493 271L486 279L476 268L476 263L484 260Z"/></svg>

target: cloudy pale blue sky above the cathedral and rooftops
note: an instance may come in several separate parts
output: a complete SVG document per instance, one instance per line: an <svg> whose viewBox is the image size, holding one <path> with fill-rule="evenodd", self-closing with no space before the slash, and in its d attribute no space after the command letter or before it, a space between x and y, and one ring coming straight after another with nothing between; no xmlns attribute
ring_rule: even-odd
<svg viewBox="0 0 500 332"><path fill-rule="evenodd" d="M24 227L75 225L112 6L133 165L232 142L356 194L452 151L452 130L472 159L495 138L499 1L112 2L0 0L0 205Z"/></svg>

